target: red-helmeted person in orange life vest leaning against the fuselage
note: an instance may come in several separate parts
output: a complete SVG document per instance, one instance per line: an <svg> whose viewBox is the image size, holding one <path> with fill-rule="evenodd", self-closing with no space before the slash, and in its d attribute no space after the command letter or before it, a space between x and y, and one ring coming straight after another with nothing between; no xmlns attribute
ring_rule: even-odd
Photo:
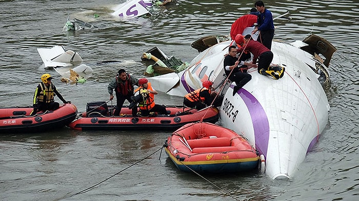
<svg viewBox="0 0 359 201"><path fill-rule="evenodd" d="M197 110L201 110L206 106L211 105L213 99L211 98L212 82L206 80L202 83L202 88L198 88L193 92L185 95L183 104L187 107L194 107Z"/></svg>

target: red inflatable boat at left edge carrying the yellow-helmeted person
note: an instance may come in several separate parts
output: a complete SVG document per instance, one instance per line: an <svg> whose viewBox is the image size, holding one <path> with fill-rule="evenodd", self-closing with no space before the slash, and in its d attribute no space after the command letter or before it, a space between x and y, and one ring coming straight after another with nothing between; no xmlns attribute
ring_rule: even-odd
<svg viewBox="0 0 359 201"><path fill-rule="evenodd" d="M77 116L73 104L64 104L54 111L39 112L29 117L32 107L0 108L0 133L41 132L61 128Z"/></svg>

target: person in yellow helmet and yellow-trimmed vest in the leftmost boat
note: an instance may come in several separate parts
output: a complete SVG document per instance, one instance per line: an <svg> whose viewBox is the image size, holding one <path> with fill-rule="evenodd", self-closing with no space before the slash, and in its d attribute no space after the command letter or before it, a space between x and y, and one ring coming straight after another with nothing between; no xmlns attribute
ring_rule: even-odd
<svg viewBox="0 0 359 201"><path fill-rule="evenodd" d="M53 77L50 74L44 74L41 76L42 83L38 83L34 98L33 106L30 116L33 116L37 111L46 111L46 110L56 110L60 106L58 102L55 102L54 96L63 101L64 104L71 103L71 101L66 101L63 96L57 91L56 86L51 82Z"/></svg>

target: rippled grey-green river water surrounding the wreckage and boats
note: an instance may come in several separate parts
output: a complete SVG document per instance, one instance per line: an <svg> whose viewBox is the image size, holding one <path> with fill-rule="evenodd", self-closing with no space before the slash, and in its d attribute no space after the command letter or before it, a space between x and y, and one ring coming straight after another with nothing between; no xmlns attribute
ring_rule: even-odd
<svg viewBox="0 0 359 201"><path fill-rule="evenodd" d="M197 54L190 47L195 39L229 34L233 21L254 4L177 0L156 16L124 23L111 16L111 8L121 2L0 1L0 107L31 105L40 76L50 73L65 99L85 111L87 102L108 100L107 84L118 69L143 76L143 52L157 46L189 62ZM157 150L169 132L65 127L0 136L0 200L358 200L359 2L265 3L273 16L291 13L290 21L275 20L275 40L291 42L314 33L337 48L331 83L324 86L331 106L329 123L290 180L272 181L255 171L203 175L205 180L178 171L164 151L160 155ZM63 32L68 16L102 21L107 27ZM36 48L55 45L78 52L94 70L85 84L66 85L54 70L44 68ZM109 60L115 62L104 62ZM156 103L181 101L163 93L156 97Z"/></svg>

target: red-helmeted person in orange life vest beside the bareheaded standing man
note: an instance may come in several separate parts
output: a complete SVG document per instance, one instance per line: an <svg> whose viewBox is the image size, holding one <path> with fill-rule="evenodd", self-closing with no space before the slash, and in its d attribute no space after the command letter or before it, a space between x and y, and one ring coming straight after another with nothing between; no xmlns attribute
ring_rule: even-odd
<svg viewBox="0 0 359 201"><path fill-rule="evenodd" d="M139 87L135 90L135 95L142 96L142 100L138 102L139 115L147 117L150 113L157 113L158 115L167 115L167 109L163 105L157 105L154 103L154 95L158 94L153 90L151 83L146 78L138 80Z"/></svg>

